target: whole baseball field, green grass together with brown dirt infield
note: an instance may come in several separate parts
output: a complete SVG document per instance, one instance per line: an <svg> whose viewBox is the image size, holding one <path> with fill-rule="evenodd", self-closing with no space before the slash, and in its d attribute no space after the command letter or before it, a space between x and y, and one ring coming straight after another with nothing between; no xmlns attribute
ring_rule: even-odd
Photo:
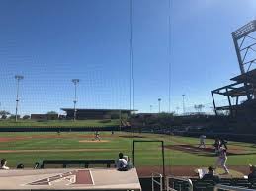
<svg viewBox="0 0 256 191"><path fill-rule="evenodd" d="M189 137L124 132L100 132L100 137L95 141L94 132L1 133L0 158L7 159L11 168L19 163L33 167L45 159L117 159L119 152L132 156L133 140L162 140L167 173L194 175L196 168L214 165L216 160L212 139L206 140L206 149L198 149L199 139ZM256 145L229 141L227 166L233 173L246 174L249 163L256 163ZM137 143L135 165L140 175L160 170L161 145Z"/></svg>

